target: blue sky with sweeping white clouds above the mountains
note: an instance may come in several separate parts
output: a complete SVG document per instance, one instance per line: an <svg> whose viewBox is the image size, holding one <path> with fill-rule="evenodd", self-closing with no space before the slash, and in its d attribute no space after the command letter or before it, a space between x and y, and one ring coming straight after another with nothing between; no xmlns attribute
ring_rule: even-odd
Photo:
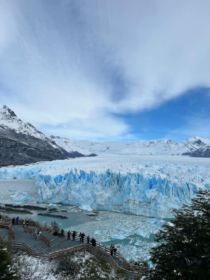
<svg viewBox="0 0 210 280"><path fill-rule="evenodd" d="M0 5L0 107L70 139L210 138L210 1Z"/></svg>

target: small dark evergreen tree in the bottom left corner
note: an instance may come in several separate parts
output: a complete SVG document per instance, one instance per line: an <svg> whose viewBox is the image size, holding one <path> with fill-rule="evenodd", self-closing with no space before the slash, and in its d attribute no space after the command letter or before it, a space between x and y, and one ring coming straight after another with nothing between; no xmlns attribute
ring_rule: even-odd
<svg viewBox="0 0 210 280"><path fill-rule="evenodd" d="M18 277L12 266L7 247L8 244L0 242L0 279L16 280Z"/></svg>

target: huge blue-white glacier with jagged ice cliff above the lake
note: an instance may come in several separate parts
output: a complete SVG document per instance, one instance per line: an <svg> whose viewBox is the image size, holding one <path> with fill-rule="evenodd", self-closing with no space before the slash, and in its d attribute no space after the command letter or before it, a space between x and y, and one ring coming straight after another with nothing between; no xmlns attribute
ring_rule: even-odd
<svg viewBox="0 0 210 280"><path fill-rule="evenodd" d="M37 202L172 218L199 189L210 189L210 159L104 155L2 167L2 179L34 179Z"/></svg>

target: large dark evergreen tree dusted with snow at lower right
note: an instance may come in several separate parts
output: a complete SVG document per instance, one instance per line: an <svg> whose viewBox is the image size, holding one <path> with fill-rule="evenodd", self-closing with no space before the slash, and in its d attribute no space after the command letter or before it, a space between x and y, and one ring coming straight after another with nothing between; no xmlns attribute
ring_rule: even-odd
<svg viewBox="0 0 210 280"><path fill-rule="evenodd" d="M210 191L199 191L191 204L174 209L173 226L156 234L160 246L151 250L152 280L210 279Z"/></svg>

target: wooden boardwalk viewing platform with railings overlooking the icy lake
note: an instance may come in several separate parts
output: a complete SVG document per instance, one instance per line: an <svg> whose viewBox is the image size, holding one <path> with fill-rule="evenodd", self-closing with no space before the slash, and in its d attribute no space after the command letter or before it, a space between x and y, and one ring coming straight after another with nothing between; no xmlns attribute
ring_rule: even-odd
<svg viewBox="0 0 210 280"><path fill-rule="evenodd" d="M12 225L11 219L6 218L2 213L2 220L0 224L0 233L9 236L9 242L14 249L22 250L34 257L55 259L62 254L74 253L78 251L88 251L89 253L99 257L101 260L109 263L115 271L124 271L124 275L128 279L136 279L148 274L148 269L142 266L134 266L132 263L116 252L116 259L110 256L109 247L97 242L96 247L87 244L87 237L84 237L84 243L80 242L78 234L75 240L67 240L67 232L63 237L54 236L53 228L49 226L43 227L37 221L29 221L29 226L23 227L22 220L18 225ZM36 239L36 233L40 230L42 232L40 239Z"/></svg>

